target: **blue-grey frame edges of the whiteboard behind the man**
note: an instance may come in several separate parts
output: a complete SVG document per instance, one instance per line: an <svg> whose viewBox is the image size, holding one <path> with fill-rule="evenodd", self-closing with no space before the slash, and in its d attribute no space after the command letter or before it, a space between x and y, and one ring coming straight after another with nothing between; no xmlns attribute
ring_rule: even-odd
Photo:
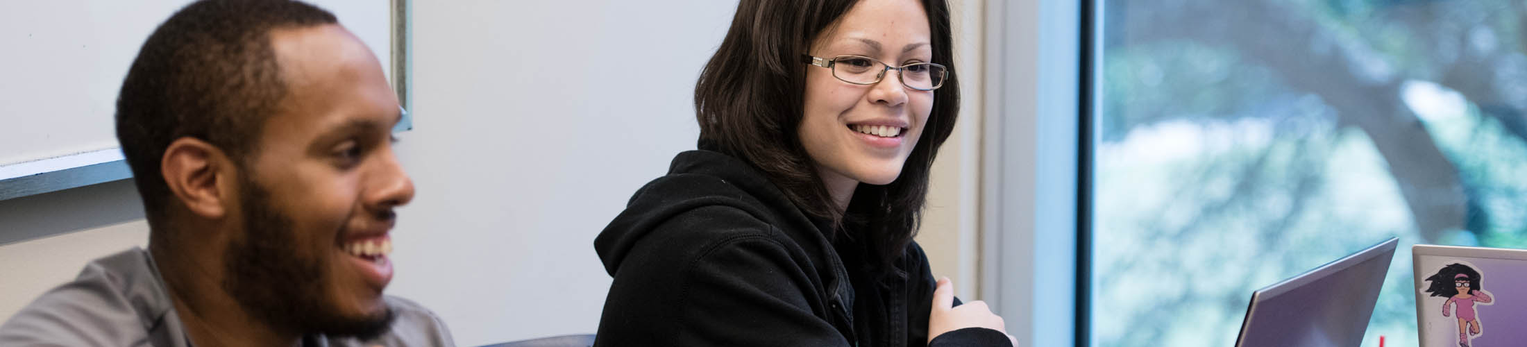
<svg viewBox="0 0 1527 347"><path fill-rule="evenodd" d="M397 92L399 105L403 107L403 119L392 131L414 128L412 79L414 79L414 44L409 40L414 26L409 14L414 11L412 0L391 0L391 73L392 90ZM0 200L24 196L44 194L69 188L98 185L113 180L131 179L133 171L127 167L121 147L82 151L66 156L44 157L17 164L0 164Z"/></svg>

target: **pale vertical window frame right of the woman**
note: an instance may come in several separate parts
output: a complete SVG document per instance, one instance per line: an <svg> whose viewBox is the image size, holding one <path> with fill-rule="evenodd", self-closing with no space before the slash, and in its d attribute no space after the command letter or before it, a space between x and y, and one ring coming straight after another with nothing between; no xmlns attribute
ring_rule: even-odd
<svg viewBox="0 0 1527 347"><path fill-rule="evenodd" d="M985 6L979 293L1020 345L1087 345L1095 6Z"/></svg>

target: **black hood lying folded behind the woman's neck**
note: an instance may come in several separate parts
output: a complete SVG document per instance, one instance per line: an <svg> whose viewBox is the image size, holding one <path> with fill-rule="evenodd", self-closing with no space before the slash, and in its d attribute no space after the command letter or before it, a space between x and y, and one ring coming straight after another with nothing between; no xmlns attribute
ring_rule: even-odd
<svg viewBox="0 0 1527 347"><path fill-rule="evenodd" d="M680 153L667 176L637 190L626 209L594 238L605 271L615 275L631 249L669 219L702 206L731 206L777 226L814 254L834 254L825 229L831 222L806 217L764 173L719 151ZM835 257L831 263L840 263Z"/></svg>

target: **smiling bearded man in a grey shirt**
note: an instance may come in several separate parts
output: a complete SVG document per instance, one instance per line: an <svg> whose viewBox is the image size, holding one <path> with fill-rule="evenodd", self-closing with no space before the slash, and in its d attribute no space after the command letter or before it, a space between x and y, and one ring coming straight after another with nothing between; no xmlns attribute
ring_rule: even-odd
<svg viewBox="0 0 1527 347"><path fill-rule="evenodd" d="M92 261L0 326L0 345L450 345L382 290L397 96L333 14L289 0L188 5L122 83L118 139L148 251Z"/></svg>

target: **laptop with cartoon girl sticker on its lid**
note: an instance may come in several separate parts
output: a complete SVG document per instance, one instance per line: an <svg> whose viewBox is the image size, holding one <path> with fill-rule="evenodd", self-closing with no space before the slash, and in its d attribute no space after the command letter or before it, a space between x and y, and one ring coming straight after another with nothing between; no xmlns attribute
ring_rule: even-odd
<svg viewBox="0 0 1527 347"><path fill-rule="evenodd" d="M1416 245L1422 347L1522 345L1527 249Z"/></svg>

